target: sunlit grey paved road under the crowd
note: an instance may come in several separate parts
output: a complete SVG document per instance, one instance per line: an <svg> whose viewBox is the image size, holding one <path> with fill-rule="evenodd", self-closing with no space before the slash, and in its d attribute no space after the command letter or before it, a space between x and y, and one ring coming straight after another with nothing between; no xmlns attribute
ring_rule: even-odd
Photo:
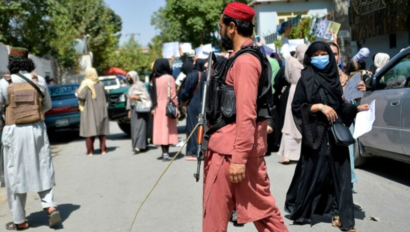
<svg viewBox="0 0 410 232"><path fill-rule="evenodd" d="M183 130L180 123L179 130ZM66 231L129 231L136 209L168 163L161 162L160 148L133 155L130 139L111 123L109 153L85 156L85 141L78 131L63 131L52 138L56 170L55 201ZM185 138L183 133L180 139ZM97 145L97 142L95 143ZM171 147L175 154L178 148ZM286 190L295 165L279 164L279 157L267 157L271 191L283 214ZM176 160L142 207L132 231L201 231L202 182L196 183L196 162ZM355 214L358 231L408 231L410 212L410 165L375 159L357 169L356 202L364 210ZM3 201L2 201L3 199ZM29 231L50 231L38 196L30 193L26 204ZM286 214L284 214L286 215ZM381 221L367 218L377 217ZM0 231L11 220L4 188L0 189ZM330 218L315 217L316 223L292 225L290 231L339 231ZM407 228L407 229L406 229ZM229 225L229 231L255 231L252 224Z"/></svg>

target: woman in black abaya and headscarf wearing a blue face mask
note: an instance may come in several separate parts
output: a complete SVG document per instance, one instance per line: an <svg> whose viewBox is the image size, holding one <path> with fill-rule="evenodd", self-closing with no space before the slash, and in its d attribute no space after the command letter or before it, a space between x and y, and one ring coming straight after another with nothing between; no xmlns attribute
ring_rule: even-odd
<svg viewBox="0 0 410 232"><path fill-rule="evenodd" d="M336 120L349 126L357 112L369 106L343 101L335 56L326 43L311 44L303 64L292 102L294 120L303 137L302 149L285 210L291 220L304 223L311 222L313 214L329 214L333 209L333 226L356 231L348 147L335 145L328 131L330 122Z"/></svg>

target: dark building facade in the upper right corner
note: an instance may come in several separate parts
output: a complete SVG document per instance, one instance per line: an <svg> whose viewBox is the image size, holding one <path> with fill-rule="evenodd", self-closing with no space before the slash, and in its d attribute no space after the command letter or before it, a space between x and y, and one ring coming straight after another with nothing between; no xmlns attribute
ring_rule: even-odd
<svg viewBox="0 0 410 232"><path fill-rule="evenodd" d="M367 66L373 64L372 56L378 52L393 58L401 49L410 46L410 1L373 2L373 9L358 0L351 0L349 6L352 53L362 47L370 49Z"/></svg>

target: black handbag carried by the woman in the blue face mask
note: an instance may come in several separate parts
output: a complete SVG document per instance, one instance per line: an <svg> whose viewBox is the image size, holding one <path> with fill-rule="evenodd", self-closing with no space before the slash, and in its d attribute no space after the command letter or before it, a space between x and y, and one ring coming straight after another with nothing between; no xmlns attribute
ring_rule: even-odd
<svg viewBox="0 0 410 232"><path fill-rule="evenodd" d="M323 103L327 105L327 100L323 89L319 90L319 94ZM330 131L335 145L348 147L356 142L352 136L352 132L350 132L350 129L345 126L340 119L337 119L334 123L331 123Z"/></svg>

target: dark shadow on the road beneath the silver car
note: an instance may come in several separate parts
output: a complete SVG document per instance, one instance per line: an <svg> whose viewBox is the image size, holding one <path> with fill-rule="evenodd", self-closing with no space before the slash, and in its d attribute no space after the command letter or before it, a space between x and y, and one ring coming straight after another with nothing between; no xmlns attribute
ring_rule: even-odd
<svg viewBox="0 0 410 232"><path fill-rule="evenodd" d="M410 178L408 178L408 170L410 164L395 161L382 157L369 158L363 167L360 169L371 172L380 177L410 186Z"/></svg>

